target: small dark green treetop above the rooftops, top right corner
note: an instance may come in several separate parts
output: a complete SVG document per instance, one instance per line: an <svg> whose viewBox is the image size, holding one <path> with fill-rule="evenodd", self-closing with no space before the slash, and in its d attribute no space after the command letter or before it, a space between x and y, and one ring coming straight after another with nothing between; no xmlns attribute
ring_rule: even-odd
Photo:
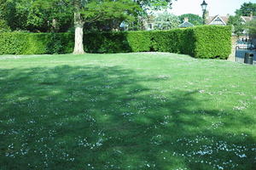
<svg viewBox="0 0 256 170"><path fill-rule="evenodd" d="M250 16L253 13L253 16L256 15L256 3L243 3L241 8L236 10L236 15L241 16Z"/></svg>

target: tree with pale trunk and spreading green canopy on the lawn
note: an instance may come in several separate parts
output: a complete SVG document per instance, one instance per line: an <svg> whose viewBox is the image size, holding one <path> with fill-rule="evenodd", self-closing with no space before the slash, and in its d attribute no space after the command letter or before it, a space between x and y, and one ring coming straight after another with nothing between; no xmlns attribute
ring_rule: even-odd
<svg viewBox="0 0 256 170"><path fill-rule="evenodd" d="M120 16L117 11L121 11L121 15L128 18L131 11L137 10L137 5L144 9L152 6L160 8L160 6L171 2L172 0L35 0L34 3L41 3L44 4L44 7L51 8L59 8L61 4L68 11L73 12L75 29L73 54L84 54L83 29L86 22Z"/></svg>

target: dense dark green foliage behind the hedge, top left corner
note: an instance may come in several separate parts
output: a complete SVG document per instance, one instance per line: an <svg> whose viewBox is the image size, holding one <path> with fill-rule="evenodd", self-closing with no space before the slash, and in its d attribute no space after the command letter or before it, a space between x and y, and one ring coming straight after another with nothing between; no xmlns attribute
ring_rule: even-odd
<svg viewBox="0 0 256 170"><path fill-rule="evenodd" d="M54 6L44 8L34 0L1 1L2 18L13 31L67 31L73 20L72 13L60 3L58 8ZM58 26L55 26L55 21Z"/></svg>

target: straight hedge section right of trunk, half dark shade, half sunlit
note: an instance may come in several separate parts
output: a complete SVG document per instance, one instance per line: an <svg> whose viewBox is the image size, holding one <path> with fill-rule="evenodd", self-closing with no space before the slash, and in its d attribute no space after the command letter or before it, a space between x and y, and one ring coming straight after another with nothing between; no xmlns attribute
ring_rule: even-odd
<svg viewBox="0 0 256 170"><path fill-rule="evenodd" d="M88 53L126 53L150 50L147 31L87 32L84 49Z"/></svg>

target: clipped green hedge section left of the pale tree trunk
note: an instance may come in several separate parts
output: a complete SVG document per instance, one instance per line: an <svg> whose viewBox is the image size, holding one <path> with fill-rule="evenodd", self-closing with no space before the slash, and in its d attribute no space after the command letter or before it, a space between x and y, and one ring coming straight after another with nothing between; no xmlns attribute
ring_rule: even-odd
<svg viewBox="0 0 256 170"><path fill-rule="evenodd" d="M63 54L71 53L72 34L20 33L0 34L0 54Z"/></svg>

